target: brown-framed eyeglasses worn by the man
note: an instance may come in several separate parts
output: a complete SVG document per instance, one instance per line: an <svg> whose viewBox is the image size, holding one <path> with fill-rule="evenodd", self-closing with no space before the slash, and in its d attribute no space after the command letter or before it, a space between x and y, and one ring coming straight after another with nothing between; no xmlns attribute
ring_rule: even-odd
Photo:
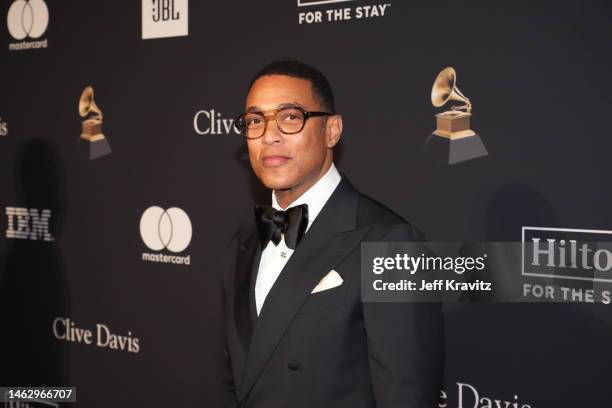
<svg viewBox="0 0 612 408"><path fill-rule="evenodd" d="M247 139L258 139L266 132L268 120L274 120L278 130L286 135L292 135L304 129L308 118L333 115L329 112L309 112L299 106L273 109L270 112L274 112L274 114L264 115L263 112L243 113L234 120L234 127ZM270 119L266 119L266 116L269 116Z"/></svg>

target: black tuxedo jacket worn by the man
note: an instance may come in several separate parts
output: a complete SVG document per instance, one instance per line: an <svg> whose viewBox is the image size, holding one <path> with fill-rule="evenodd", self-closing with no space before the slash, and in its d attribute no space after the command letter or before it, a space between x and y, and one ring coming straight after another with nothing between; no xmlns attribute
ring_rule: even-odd
<svg viewBox="0 0 612 408"><path fill-rule="evenodd" d="M343 176L268 293L259 317L255 222L224 271L229 406L433 408L443 380L441 307L360 300L360 243L422 240ZM311 294L330 270L344 282Z"/></svg>

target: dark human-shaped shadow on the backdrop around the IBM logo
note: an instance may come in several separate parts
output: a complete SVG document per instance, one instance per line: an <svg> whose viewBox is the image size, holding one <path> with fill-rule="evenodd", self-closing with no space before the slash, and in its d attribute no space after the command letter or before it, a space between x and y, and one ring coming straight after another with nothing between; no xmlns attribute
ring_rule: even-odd
<svg viewBox="0 0 612 408"><path fill-rule="evenodd" d="M0 259L0 384L67 386L66 343L57 340L52 330L53 320L70 311L57 248L67 204L62 160L57 147L43 139L24 143L16 158L17 202L7 205L51 210L49 232L55 240L5 240ZM16 217L14 222L17 228Z"/></svg>

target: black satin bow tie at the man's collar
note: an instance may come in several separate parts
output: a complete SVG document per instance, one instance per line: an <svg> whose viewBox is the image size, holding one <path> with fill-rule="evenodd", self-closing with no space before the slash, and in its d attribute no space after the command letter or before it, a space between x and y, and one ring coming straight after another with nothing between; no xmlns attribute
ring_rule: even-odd
<svg viewBox="0 0 612 408"><path fill-rule="evenodd" d="M262 249L270 241L278 245L282 234L285 236L287 247L295 249L308 226L308 205L298 205L286 211L276 210L269 205L256 205L255 222Z"/></svg>

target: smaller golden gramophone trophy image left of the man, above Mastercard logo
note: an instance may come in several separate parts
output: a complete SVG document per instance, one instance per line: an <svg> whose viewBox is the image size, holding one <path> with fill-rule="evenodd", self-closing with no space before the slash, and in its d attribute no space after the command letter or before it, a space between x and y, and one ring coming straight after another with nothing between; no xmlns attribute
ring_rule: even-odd
<svg viewBox="0 0 612 408"><path fill-rule="evenodd" d="M102 111L94 102L91 86L85 87L81 93L79 115L86 118L82 123L81 139L89 142L89 160L110 154L110 145L102 134Z"/></svg>

